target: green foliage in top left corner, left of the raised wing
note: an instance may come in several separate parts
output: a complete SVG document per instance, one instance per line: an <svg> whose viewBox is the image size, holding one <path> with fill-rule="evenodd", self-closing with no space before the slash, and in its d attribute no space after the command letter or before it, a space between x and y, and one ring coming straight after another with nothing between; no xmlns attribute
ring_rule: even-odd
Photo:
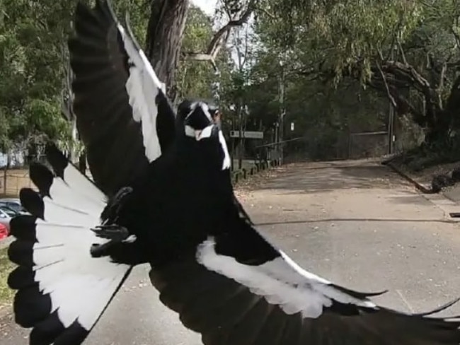
<svg viewBox="0 0 460 345"><path fill-rule="evenodd" d="M67 135L60 115L65 40L76 1L2 3L0 146Z"/></svg>

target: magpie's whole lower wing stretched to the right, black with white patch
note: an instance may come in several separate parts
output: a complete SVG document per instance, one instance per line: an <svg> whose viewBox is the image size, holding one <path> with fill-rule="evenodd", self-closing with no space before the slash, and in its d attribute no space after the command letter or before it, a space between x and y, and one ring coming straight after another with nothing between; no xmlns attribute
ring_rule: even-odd
<svg viewBox="0 0 460 345"><path fill-rule="evenodd" d="M458 345L459 320L381 308L301 269L243 220L153 269L161 301L205 345ZM439 308L441 309L441 308Z"/></svg>

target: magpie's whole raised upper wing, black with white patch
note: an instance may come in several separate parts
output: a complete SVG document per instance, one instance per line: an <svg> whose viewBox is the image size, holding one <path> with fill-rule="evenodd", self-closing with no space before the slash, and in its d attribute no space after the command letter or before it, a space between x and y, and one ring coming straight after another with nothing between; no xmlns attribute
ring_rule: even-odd
<svg viewBox="0 0 460 345"><path fill-rule="evenodd" d="M93 180L113 196L172 143L164 84L109 1L77 4L69 39L74 113Z"/></svg>

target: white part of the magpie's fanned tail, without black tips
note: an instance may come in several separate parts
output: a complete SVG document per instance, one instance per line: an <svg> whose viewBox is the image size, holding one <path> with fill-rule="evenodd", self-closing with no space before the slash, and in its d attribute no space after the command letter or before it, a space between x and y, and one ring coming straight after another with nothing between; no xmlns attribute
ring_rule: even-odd
<svg viewBox="0 0 460 345"><path fill-rule="evenodd" d="M52 312L57 310L64 327L78 320L89 330L130 267L109 257L91 257L93 243L108 241L90 230L100 223L103 194L73 165L64 170L64 179L54 178L52 199L43 199L45 221L36 221L33 270L40 291L50 293Z"/></svg>

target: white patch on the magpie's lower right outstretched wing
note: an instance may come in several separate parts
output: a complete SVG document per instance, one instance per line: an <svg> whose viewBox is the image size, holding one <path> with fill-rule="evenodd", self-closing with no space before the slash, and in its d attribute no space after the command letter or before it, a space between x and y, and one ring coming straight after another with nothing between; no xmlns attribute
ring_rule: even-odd
<svg viewBox="0 0 460 345"><path fill-rule="evenodd" d="M303 317L316 318L333 300L375 308L374 303L359 300L328 285L328 281L304 269L293 267L292 260L284 253L271 262L259 266L240 264L215 251L215 240L209 237L197 248L197 261L215 271L247 286L252 293L263 296L268 303L280 305L288 315L301 312ZM286 260L288 259L288 260ZM299 270L300 269L300 270Z"/></svg>

